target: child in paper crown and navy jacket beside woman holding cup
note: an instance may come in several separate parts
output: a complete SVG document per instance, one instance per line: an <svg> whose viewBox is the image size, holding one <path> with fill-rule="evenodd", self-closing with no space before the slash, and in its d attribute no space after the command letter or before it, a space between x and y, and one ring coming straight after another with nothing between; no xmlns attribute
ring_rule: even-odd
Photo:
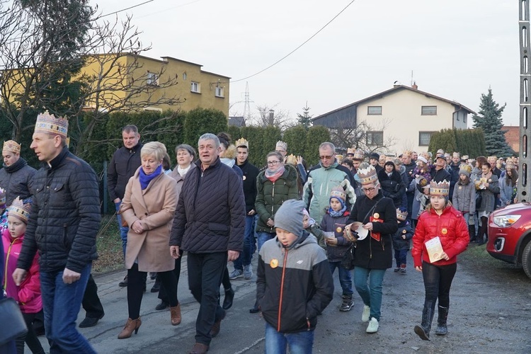
<svg viewBox="0 0 531 354"><path fill-rule="evenodd" d="M330 194L330 207L323 217L321 222L321 229L325 234L326 254L329 258L330 271L333 274L334 270L338 268L339 282L343 289L343 303L339 311L350 311L353 307L352 301L352 278L350 278L350 270L341 265L341 260L345 256L351 242L343 237L343 230L347 224L350 212L348 212L346 204L346 193L341 187L333 188ZM333 237L327 237L326 233L333 232Z"/></svg>

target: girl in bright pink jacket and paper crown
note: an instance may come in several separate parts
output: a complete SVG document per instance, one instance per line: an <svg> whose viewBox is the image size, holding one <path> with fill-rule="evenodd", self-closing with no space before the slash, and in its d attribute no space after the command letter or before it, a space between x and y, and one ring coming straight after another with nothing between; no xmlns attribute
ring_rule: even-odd
<svg viewBox="0 0 531 354"><path fill-rule="evenodd" d="M2 244L4 245L4 259L6 261L6 276L4 278L4 290L8 297L18 302L21 312L28 326L28 333L16 339L18 354L24 353L24 341L28 344L32 353L45 353L40 341L33 331L33 319L42 312L42 297L40 295L40 278L38 254L35 255L28 275L20 286L16 286L11 274L16 269L18 255L21 253L25 227L30 215L31 200L23 202L20 198L13 200L13 204L7 209L7 229L2 231Z"/></svg>

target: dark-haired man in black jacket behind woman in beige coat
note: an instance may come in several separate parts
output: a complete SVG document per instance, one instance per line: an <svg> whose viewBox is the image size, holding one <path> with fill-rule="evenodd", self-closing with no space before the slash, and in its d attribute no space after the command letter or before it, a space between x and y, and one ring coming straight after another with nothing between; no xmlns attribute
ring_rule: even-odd
<svg viewBox="0 0 531 354"><path fill-rule="evenodd" d="M135 125L126 125L122 130L123 147L116 150L113 159L107 168L107 186L110 199L113 200L116 211L120 210L122 198L125 193L125 185L129 182L137 169L140 167L140 135ZM122 217L117 214L118 227L120 228L120 237L122 238L122 251L125 258L125 247L127 246L127 232L129 227L122 226ZM127 276L118 285L127 286Z"/></svg>

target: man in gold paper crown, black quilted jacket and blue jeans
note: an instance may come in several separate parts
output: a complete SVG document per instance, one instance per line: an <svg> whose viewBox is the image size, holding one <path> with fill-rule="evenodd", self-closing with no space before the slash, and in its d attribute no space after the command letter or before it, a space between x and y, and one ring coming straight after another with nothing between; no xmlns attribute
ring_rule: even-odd
<svg viewBox="0 0 531 354"><path fill-rule="evenodd" d="M13 279L20 285L35 253L51 353L96 353L76 329L100 227L98 178L69 152L68 121L38 115L30 148L44 166L35 173L33 204Z"/></svg>

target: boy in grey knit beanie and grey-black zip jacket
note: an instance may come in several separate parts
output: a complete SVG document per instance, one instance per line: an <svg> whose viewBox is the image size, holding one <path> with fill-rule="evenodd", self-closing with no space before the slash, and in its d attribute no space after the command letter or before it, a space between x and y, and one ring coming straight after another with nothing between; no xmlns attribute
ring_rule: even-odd
<svg viewBox="0 0 531 354"><path fill-rule="evenodd" d="M331 302L333 279L326 255L302 229L300 200L275 214L277 236L258 253L256 301L265 319L265 353L312 353L317 314Z"/></svg>

